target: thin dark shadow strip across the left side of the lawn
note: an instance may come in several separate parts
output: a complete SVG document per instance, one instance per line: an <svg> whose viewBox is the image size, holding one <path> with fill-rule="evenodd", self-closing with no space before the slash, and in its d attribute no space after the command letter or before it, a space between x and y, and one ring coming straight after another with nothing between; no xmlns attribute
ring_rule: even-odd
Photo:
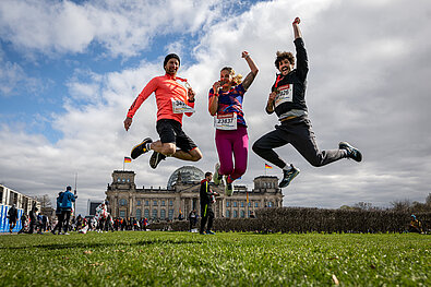
<svg viewBox="0 0 431 287"><path fill-rule="evenodd" d="M48 243L48 244L37 244L37 246L23 246L23 247L0 247L0 250L29 250L29 249L47 249L47 250L61 250L61 249L88 249L88 248L109 248L119 246L139 247L139 246L153 246L153 244L202 244L202 241L190 241L190 240L142 240L134 243L119 243L119 242L68 242L68 243Z"/></svg>

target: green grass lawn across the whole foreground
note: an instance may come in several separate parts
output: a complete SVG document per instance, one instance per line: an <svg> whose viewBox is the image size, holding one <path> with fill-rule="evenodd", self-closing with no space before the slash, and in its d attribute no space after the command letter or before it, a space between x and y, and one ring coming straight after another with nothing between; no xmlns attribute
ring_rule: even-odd
<svg viewBox="0 0 431 287"><path fill-rule="evenodd" d="M0 286L431 286L426 235L0 236Z"/></svg>

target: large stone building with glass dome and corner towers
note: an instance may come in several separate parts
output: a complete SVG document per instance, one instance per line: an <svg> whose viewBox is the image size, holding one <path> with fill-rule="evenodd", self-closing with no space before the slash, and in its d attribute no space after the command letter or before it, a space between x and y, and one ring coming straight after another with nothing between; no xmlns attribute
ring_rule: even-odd
<svg viewBox="0 0 431 287"><path fill-rule="evenodd" d="M116 170L108 184L106 200L112 217L149 220L187 218L193 210L200 213L200 187L204 172L193 166L184 166L169 177L164 188L136 188L134 171ZM232 196L225 195L225 187L211 184L218 192L213 210L216 217L244 218L262 207L282 207L283 193L277 177L260 176L254 188L235 186Z"/></svg>

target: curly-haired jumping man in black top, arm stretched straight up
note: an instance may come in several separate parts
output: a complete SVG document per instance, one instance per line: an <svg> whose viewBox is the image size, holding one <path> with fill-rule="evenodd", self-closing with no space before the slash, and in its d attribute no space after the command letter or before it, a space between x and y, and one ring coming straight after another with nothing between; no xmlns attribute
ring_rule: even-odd
<svg viewBox="0 0 431 287"><path fill-rule="evenodd" d="M253 152L265 160L283 169L279 188L287 187L299 174L294 165L286 164L273 148L291 144L312 166L321 167L340 158L362 160L362 154L347 142L340 142L337 150L321 151L315 143L314 132L308 118L306 105L307 74L309 72L308 57L299 29L299 17L295 19L294 34L297 50L297 69L291 52L277 52L275 67L280 72L272 87L266 112L275 113L279 125L259 139L253 144Z"/></svg>

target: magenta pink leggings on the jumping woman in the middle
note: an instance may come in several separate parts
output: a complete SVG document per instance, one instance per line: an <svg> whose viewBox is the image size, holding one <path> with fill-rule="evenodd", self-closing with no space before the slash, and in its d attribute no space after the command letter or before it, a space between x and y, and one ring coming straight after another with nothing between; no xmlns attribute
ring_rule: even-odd
<svg viewBox="0 0 431 287"><path fill-rule="evenodd" d="M249 135L246 127L238 127L235 131L216 130L216 146L220 160L219 174L230 176L234 181L247 170L249 154ZM235 158L235 167L232 160Z"/></svg>

